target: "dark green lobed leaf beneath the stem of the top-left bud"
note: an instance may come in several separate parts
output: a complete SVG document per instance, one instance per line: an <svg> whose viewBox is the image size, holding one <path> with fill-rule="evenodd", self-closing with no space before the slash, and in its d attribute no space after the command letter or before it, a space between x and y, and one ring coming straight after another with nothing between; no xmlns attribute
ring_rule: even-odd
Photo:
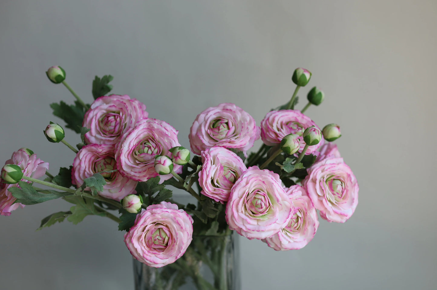
<svg viewBox="0 0 437 290"><path fill-rule="evenodd" d="M74 105L67 105L64 101L50 104L53 109L53 115L63 119L66 127L80 133L83 117L85 116L85 108L79 102L74 102Z"/></svg>

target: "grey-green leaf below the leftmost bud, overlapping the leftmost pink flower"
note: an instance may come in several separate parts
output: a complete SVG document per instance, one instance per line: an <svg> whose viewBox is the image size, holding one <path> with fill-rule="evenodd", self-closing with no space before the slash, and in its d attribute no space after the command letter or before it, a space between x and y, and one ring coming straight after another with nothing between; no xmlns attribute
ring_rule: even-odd
<svg viewBox="0 0 437 290"><path fill-rule="evenodd" d="M56 198L61 198L63 196L69 195L68 192L59 192L52 190L36 191L30 184L24 181L19 181L18 185L21 188L11 187L8 189L12 193L14 198L17 198L17 203L23 205L36 205L44 201L49 201Z"/></svg>

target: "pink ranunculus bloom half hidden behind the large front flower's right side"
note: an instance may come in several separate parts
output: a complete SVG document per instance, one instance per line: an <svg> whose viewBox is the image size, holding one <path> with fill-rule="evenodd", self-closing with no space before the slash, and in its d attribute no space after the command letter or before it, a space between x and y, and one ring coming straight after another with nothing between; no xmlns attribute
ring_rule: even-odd
<svg viewBox="0 0 437 290"><path fill-rule="evenodd" d="M295 206L290 222L277 234L263 240L277 251L302 249L314 238L319 227L316 208L305 189L293 185L288 188L287 194Z"/></svg>

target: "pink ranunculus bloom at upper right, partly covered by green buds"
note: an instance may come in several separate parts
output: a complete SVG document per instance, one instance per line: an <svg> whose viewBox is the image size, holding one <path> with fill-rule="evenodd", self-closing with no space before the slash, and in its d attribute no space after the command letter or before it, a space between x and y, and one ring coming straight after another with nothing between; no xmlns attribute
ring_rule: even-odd
<svg viewBox="0 0 437 290"><path fill-rule="evenodd" d="M281 140L288 134L298 134L300 136L300 148L298 152L300 153L305 147L302 134L306 128L311 126L316 126L316 128L320 130L312 119L298 110L270 111L261 121L261 139L264 144L274 146L281 143ZM305 155L314 154L324 142L322 138L318 144L309 146L305 151Z"/></svg>

